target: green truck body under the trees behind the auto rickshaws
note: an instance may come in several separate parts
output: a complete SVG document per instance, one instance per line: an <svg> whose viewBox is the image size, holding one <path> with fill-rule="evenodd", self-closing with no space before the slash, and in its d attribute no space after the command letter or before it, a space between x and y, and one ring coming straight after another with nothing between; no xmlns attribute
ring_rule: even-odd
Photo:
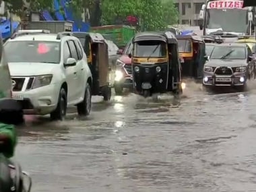
<svg viewBox="0 0 256 192"><path fill-rule="evenodd" d="M129 40L136 34L134 27L124 25L92 27L90 28L90 32L102 34L104 38L112 40L121 49L124 48Z"/></svg>

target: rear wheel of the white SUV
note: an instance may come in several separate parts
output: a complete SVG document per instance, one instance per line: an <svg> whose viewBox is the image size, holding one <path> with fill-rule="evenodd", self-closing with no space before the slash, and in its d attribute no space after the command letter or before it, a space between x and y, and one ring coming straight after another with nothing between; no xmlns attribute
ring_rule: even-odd
<svg viewBox="0 0 256 192"><path fill-rule="evenodd" d="M84 92L84 100L77 104L77 113L78 115L87 116L90 114L92 107L92 91L90 84L86 84L86 90Z"/></svg>

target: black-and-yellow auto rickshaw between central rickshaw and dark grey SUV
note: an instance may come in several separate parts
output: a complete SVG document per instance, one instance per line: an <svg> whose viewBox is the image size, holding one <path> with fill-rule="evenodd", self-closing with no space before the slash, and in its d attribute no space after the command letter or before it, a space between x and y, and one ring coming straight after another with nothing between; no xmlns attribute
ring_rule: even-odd
<svg viewBox="0 0 256 192"><path fill-rule="evenodd" d="M197 35L176 36L179 44L181 76L193 79L203 78L203 65L207 61L205 42Z"/></svg>

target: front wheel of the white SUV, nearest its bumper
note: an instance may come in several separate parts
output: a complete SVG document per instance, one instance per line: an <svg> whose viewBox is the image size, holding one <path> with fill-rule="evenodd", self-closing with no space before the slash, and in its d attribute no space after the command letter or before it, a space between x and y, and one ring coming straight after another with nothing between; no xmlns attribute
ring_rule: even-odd
<svg viewBox="0 0 256 192"><path fill-rule="evenodd" d="M63 120L67 112L67 93L61 88L57 108L51 113L52 120Z"/></svg>

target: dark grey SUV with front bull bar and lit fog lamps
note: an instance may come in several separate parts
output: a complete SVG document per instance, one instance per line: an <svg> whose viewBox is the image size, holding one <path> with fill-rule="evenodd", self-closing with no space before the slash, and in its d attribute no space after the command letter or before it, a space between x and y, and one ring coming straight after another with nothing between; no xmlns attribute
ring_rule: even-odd
<svg viewBox="0 0 256 192"><path fill-rule="evenodd" d="M244 90L254 77L253 55L246 44L216 44L203 67L203 86L232 86Z"/></svg>

